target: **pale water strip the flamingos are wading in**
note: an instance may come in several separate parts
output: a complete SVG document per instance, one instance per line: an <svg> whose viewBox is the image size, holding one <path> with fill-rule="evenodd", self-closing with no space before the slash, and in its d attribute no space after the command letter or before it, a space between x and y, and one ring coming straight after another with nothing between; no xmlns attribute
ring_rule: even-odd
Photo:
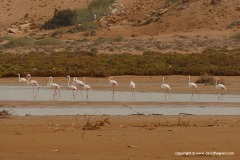
<svg viewBox="0 0 240 160"><path fill-rule="evenodd" d="M24 87L21 89L20 86L0 86L0 100L33 100L32 88ZM81 91L78 92L75 101L86 100L86 92L83 92L83 98ZM191 94L184 93L172 93L170 102L240 102L240 95L224 95L222 100L218 99L216 94L199 94L199 100L197 95L194 95L193 100L191 99ZM53 100L53 89L46 87L41 87L38 95L37 101L48 101ZM61 90L61 101L74 101L71 90ZM128 91L116 91L115 101L133 101L132 93ZM101 91L101 90L91 90L89 91L88 101L112 101L112 91ZM165 94L160 92L136 92L135 99L136 102L163 102L165 101Z"/></svg>

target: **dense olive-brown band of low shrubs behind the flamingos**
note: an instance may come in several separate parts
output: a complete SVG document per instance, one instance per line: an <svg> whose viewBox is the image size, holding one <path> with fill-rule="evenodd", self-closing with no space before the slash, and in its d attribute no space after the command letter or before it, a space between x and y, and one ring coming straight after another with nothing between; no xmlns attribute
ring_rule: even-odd
<svg viewBox="0 0 240 160"><path fill-rule="evenodd" d="M33 76L108 75L240 75L240 50L206 50L201 54L75 53L0 54L0 76L31 73Z"/></svg>

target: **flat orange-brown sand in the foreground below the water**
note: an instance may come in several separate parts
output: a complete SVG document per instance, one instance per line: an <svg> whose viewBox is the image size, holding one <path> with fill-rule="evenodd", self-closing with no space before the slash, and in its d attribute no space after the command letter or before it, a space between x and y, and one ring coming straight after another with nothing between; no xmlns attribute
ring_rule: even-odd
<svg viewBox="0 0 240 160"><path fill-rule="evenodd" d="M239 116L16 116L0 128L1 160L240 159Z"/></svg>

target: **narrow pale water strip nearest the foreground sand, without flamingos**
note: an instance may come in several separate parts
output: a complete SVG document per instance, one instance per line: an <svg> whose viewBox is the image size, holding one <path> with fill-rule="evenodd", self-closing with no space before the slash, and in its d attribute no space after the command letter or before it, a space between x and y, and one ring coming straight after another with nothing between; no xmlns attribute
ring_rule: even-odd
<svg viewBox="0 0 240 160"><path fill-rule="evenodd" d="M30 115L132 115L143 113L145 115L179 115L180 113L194 115L240 115L240 107L81 107L81 108L0 108L11 113L24 116Z"/></svg>

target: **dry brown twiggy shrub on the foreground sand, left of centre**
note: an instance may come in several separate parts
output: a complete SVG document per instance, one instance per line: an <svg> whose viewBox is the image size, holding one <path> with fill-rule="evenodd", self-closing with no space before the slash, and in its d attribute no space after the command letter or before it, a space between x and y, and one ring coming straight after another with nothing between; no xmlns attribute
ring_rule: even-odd
<svg viewBox="0 0 240 160"><path fill-rule="evenodd" d="M90 119L87 119L86 124L83 126L82 130L97 130L101 126L111 125L109 122L109 117L101 121L90 122Z"/></svg>

